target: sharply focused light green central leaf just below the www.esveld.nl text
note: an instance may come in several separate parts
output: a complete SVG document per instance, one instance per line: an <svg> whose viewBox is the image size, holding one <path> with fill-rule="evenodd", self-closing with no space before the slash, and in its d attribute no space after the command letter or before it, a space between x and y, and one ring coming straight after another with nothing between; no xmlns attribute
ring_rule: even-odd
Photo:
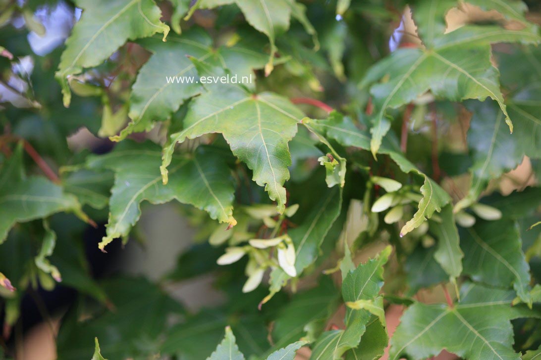
<svg viewBox="0 0 541 360"><path fill-rule="evenodd" d="M223 76L223 70L193 59L201 76ZM301 112L288 100L273 93L250 94L237 84L212 84L209 90L193 100L184 118L184 129L171 135L171 145L163 150L161 166L167 184L167 166L177 142L203 134L221 133L233 154L253 170L253 180L265 186L269 198L278 202L280 213L285 209L291 165L287 143L302 118Z"/></svg>

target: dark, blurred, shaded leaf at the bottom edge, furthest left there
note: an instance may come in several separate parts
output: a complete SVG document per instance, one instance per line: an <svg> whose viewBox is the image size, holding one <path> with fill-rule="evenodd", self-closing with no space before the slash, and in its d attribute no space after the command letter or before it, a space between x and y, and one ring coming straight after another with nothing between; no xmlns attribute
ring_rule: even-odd
<svg viewBox="0 0 541 360"><path fill-rule="evenodd" d="M180 315L180 304L141 277L108 279L102 286L115 310L103 309L85 321L80 320L77 309L69 311L58 332L58 358L88 358L96 335L101 338L101 350L111 359L149 358L157 354L167 319ZM82 304L76 308L81 307Z"/></svg>

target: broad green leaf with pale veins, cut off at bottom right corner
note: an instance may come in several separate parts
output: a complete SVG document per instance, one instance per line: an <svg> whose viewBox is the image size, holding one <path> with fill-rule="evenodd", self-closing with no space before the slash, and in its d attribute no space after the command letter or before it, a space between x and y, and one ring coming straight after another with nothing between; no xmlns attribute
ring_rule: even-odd
<svg viewBox="0 0 541 360"><path fill-rule="evenodd" d="M411 305L391 339L389 359L425 359L446 349L469 360L518 360L510 320L536 313L511 307L513 291L473 283L464 284L461 290L461 302L453 308L446 304Z"/></svg>

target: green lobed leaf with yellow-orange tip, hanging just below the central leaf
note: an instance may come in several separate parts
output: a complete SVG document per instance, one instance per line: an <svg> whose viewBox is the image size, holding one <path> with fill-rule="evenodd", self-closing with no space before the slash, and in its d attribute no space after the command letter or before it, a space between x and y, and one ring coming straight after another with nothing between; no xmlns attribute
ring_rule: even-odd
<svg viewBox="0 0 541 360"><path fill-rule="evenodd" d="M212 219L235 225L234 184L219 152L203 146L194 155L175 158L167 185L160 181L160 154L160 147L150 141L123 141L114 151L87 160L90 168L115 172L107 236L100 242L100 249L129 234L141 215L140 203L144 200L157 204L176 199L207 211Z"/></svg>

